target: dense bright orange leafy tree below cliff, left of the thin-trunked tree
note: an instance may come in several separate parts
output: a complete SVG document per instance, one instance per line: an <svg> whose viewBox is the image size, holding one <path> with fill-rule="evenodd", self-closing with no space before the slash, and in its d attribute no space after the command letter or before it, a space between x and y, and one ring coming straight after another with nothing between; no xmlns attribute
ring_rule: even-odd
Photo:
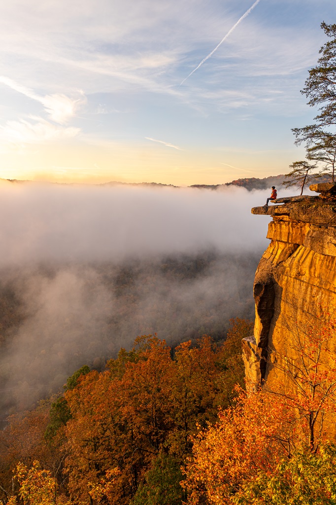
<svg viewBox="0 0 336 505"><path fill-rule="evenodd" d="M291 450L292 415L278 398L240 392L235 407L194 438L184 487L190 505L223 505L260 469L272 474Z"/></svg>

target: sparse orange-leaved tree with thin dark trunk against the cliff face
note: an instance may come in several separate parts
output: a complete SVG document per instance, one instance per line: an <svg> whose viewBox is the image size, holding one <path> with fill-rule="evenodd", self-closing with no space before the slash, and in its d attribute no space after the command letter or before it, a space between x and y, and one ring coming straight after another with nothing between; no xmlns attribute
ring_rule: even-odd
<svg viewBox="0 0 336 505"><path fill-rule="evenodd" d="M292 409L303 441L315 452L336 418L336 318L331 309L317 309L316 318L309 314L300 320L290 318L290 345L270 353L278 378L264 385L267 393L282 398Z"/></svg>

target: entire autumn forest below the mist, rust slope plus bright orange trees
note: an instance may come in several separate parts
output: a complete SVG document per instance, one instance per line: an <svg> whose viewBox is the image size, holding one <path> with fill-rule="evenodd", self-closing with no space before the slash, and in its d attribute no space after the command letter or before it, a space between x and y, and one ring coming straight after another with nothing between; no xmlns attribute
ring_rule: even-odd
<svg viewBox="0 0 336 505"><path fill-rule="evenodd" d="M3 502L335 503L336 371L321 366L334 317L321 314L300 335L287 395L246 395L240 342L252 323L231 324L221 344L205 335L171 348L139 337L105 371L84 366L64 394L13 415L0 432Z"/></svg>

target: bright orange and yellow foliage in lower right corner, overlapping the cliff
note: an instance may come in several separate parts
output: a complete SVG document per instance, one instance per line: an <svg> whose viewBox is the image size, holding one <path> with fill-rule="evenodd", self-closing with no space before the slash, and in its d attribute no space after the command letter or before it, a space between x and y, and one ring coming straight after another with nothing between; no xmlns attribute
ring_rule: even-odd
<svg viewBox="0 0 336 505"><path fill-rule="evenodd" d="M302 498L293 503L334 503L327 501L331 488L326 485L320 491L313 486L316 501L309 501L302 482L310 482L312 469L322 465L325 444L333 436L336 320L320 308L318 318L302 316L292 323L288 348L269 349L276 380L268 378L254 394L241 392L236 407L220 412L218 423L195 437L184 482L190 505L285 503L279 497L282 486L288 503L291 486L300 489ZM329 467L335 449L330 454ZM306 473L302 466L300 471L304 461L310 465ZM258 501L261 491L265 501ZM239 496L242 501L236 501Z"/></svg>

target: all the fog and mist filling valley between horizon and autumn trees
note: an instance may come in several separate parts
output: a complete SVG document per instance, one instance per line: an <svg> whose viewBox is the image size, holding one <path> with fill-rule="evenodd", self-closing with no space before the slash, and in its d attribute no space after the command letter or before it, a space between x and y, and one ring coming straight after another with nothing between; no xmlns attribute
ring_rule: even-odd
<svg viewBox="0 0 336 505"><path fill-rule="evenodd" d="M267 191L0 185L1 416L138 335L226 337L253 318Z"/></svg>

